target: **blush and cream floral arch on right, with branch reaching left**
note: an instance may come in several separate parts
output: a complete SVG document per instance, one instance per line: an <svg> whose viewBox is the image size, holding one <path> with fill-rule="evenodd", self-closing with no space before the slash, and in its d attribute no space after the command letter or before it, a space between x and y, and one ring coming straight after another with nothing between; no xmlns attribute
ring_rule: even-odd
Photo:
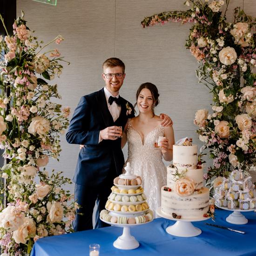
<svg viewBox="0 0 256 256"><path fill-rule="evenodd" d="M199 82L213 94L212 113L200 109L194 123L199 139L210 149L213 166L204 175L228 177L230 171L256 171L256 19L235 8L234 21L226 20L229 0L188 0L187 11L146 17L143 27L168 21L192 22L186 47L200 66Z"/></svg>

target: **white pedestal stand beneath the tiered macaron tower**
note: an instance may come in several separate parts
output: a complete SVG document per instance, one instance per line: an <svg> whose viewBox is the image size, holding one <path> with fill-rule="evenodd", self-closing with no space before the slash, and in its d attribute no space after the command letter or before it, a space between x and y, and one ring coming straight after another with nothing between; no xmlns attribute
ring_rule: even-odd
<svg viewBox="0 0 256 256"><path fill-rule="evenodd" d="M101 218L100 218L101 219ZM112 222L106 222L103 219L101 219L102 222L108 223L109 225L113 225L116 227L123 228L123 233L121 236L119 236L115 242L113 243L114 247L117 249L122 250L131 250L138 248L140 246L139 242L135 239L134 236L131 236L130 233L130 227L136 227L143 224L148 224L151 221L144 222L144 223L138 223L138 224L118 224L118 223L112 223Z"/></svg>

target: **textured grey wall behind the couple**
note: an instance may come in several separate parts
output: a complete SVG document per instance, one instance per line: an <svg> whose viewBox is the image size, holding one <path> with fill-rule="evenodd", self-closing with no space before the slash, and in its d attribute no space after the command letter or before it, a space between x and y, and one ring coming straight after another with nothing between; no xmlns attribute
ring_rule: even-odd
<svg viewBox="0 0 256 256"><path fill-rule="evenodd" d="M232 0L228 15L243 6L243 0ZM174 121L175 140L184 136L202 145L195 134L195 112L207 108L211 112L211 94L198 84L195 58L185 49L191 24L168 23L143 29L144 16L168 10L186 9L181 0L58 0L50 6L32 0L17 0L17 15L25 12L27 26L36 30L45 42L61 34L65 40L58 48L71 62L64 65L58 83L61 104L72 113L80 97L104 86L101 64L109 57L121 58L126 64L126 79L121 96L135 103L135 92L142 82L155 83L160 92L156 114L166 113ZM244 10L256 13L255 0L245 0ZM53 46L56 48L56 46ZM79 146L69 145L62 137L60 162L52 161L48 170L62 170L72 178ZM127 155L127 148L124 149ZM73 185L70 186L73 191Z"/></svg>

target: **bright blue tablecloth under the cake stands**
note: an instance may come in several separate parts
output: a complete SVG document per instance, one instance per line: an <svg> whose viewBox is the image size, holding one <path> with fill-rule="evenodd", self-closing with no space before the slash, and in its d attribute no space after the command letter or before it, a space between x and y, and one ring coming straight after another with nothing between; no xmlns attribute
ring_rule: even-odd
<svg viewBox="0 0 256 256"><path fill-rule="evenodd" d="M31 256L89 255L88 248L91 243L101 245L101 256L256 256L256 213L243 213L249 220L245 225L226 222L225 219L230 213L226 210L216 210L216 222L211 219L193 222L195 227L202 230L199 236L169 235L165 229L175 222L158 218L151 223L131 228L131 235L140 243L137 249L116 249L113 242L122 234L122 229L107 227L41 238L34 244ZM205 222L243 230L246 234L210 227L205 225Z"/></svg>

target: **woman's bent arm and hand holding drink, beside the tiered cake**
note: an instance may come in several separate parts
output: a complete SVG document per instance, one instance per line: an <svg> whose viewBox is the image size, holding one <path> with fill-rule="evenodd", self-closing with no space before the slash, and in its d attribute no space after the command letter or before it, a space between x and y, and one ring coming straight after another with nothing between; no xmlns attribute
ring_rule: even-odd
<svg viewBox="0 0 256 256"><path fill-rule="evenodd" d="M162 155L165 161L172 161L173 145L175 143L173 128L165 127L164 136L166 139L162 140Z"/></svg>

